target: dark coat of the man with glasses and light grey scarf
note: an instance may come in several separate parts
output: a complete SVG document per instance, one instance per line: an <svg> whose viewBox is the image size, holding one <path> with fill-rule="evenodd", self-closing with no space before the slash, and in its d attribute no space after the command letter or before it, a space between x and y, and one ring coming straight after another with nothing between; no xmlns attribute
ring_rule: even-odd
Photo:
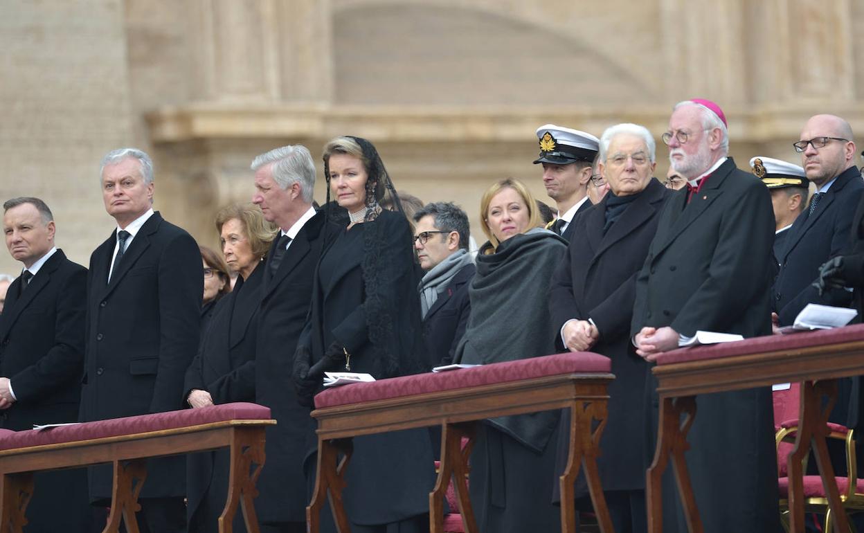
<svg viewBox="0 0 864 533"><path fill-rule="evenodd" d="M423 318L423 339L426 339L433 366L453 362L456 345L465 333L468 315L471 314L468 284L476 272L473 263L456 272Z"/></svg>

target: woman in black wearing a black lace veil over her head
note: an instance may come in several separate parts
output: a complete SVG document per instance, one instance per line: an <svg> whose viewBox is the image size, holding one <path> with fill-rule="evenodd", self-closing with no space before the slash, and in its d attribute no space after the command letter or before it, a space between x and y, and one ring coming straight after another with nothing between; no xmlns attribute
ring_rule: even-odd
<svg viewBox="0 0 864 533"><path fill-rule="evenodd" d="M365 139L336 137L324 147L324 175L326 241L295 355L298 397L309 403L324 371L368 372L377 379L429 371L410 226L378 151ZM381 208L385 195L393 211ZM317 442L309 445L314 454ZM353 447L343 492L352 531L429 530L435 483L429 432L356 437ZM306 465L312 471L314 460ZM330 520L330 513L322 518Z"/></svg>

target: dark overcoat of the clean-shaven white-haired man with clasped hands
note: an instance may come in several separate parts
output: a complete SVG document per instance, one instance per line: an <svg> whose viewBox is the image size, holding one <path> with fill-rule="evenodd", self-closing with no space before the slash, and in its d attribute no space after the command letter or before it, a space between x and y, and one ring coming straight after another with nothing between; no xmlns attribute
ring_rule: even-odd
<svg viewBox="0 0 864 533"><path fill-rule="evenodd" d="M657 231L660 209L668 189L651 179L645 191L626 207L603 234L609 195L593 209L574 219L577 238L550 283L550 314L556 332L567 320L594 320L600 339L591 352L612 359L615 379L609 385L609 418L600 441L598 466L606 491L645 488L645 378L649 365L634 352L630 321L636 299L636 276L645 263L648 246ZM561 335L556 346L562 351ZM569 427L569 411L562 427ZM558 471L567 461L567 435L558 442ZM588 495L580 479L577 497Z"/></svg>

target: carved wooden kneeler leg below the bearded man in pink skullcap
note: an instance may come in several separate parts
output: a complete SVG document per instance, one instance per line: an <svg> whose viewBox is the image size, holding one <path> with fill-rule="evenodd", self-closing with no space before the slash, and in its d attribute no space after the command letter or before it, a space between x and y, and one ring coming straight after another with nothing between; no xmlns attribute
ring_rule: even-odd
<svg viewBox="0 0 864 533"><path fill-rule="evenodd" d="M689 448L687 432L695 417L696 398L660 397L657 447L651 467L645 474L645 504L648 508L648 530L651 533L663 533L663 473L670 459L673 461L678 493L684 504L689 530L693 533L702 532L702 521L684 459L684 453Z"/></svg>

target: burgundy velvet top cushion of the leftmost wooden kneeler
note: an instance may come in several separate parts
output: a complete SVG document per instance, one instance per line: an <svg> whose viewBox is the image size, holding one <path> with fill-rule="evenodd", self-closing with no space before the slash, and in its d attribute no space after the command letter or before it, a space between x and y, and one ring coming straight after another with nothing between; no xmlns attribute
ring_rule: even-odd
<svg viewBox="0 0 864 533"><path fill-rule="evenodd" d="M17 447L41 446L60 442L89 441L103 437L116 437L134 433L147 433L160 429L186 428L226 420L267 420L270 408L257 403L223 403L201 409L183 409L152 415L125 416L73 426L36 431L8 431L0 433L0 450Z"/></svg>

